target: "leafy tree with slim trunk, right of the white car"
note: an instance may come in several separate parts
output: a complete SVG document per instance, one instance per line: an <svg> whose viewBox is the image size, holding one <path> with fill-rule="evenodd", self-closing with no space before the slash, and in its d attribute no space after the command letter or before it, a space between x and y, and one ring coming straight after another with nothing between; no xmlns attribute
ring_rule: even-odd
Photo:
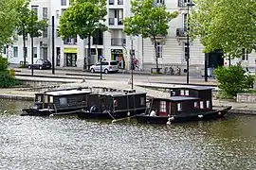
<svg viewBox="0 0 256 170"><path fill-rule="evenodd" d="M168 34L169 22L177 17L178 12L168 12L164 5L155 5L154 0L131 0L132 16L124 19L124 32L127 35L151 38L155 47L156 72L158 68L157 37Z"/></svg>

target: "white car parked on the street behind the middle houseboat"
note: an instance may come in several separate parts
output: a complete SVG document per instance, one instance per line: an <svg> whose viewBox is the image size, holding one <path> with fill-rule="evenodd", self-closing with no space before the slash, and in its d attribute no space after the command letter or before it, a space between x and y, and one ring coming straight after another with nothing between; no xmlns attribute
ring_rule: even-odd
<svg viewBox="0 0 256 170"><path fill-rule="evenodd" d="M102 68L101 68L102 66ZM90 67L90 72L102 72L108 74L110 72L119 72L119 62L116 60L97 62L96 64Z"/></svg>

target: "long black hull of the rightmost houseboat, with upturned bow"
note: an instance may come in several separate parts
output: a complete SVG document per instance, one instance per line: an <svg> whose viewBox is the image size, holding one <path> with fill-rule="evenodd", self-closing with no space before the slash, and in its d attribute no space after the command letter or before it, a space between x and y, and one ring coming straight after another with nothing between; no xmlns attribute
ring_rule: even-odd
<svg viewBox="0 0 256 170"><path fill-rule="evenodd" d="M138 123L143 124L168 124L187 121L201 121L223 118L232 107L227 107L222 110L211 110L208 112L192 113L185 115L169 116L149 116L148 114L139 114L136 116Z"/></svg>

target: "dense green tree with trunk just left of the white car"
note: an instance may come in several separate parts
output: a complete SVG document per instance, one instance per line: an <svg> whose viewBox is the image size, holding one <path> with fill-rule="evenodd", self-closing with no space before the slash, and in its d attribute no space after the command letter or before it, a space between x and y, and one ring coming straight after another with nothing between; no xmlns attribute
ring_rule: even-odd
<svg viewBox="0 0 256 170"><path fill-rule="evenodd" d="M71 5L60 19L59 33L63 39L75 35L79 35L82 40L88 39L87 59L84 58L83 63L83 69L85 69L88 59L91 59L91 37L97 31L107 29L103 25L107 14L106 2L105 0L73 0Z"/></svg>

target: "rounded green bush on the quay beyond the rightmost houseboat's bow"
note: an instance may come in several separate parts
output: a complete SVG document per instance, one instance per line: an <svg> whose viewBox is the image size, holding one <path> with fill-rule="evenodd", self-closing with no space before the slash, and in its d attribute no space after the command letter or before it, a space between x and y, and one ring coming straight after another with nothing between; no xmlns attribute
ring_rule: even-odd
<svg viewBox="0 0 256 170"><path fill-rule="evenodd" d="M219 83L219 90L228 97L246 92L253 86L254 77L246 76L240 64L231 65L230 67L218 67L214 70L213 74Z"/></svg>

